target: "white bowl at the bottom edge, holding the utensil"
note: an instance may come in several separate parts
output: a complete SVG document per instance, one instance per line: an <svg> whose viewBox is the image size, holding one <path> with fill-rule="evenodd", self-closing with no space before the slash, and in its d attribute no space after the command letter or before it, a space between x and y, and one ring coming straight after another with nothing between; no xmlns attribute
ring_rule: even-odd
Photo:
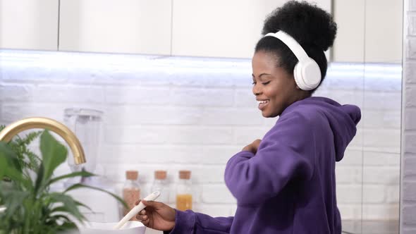
<svg viewBox="0 0 416 234"><path fill-rule="evenodd" d="M80 227L80 234L145 234L146 226L137 221L128 221L118 230L114 230L117 223L86 222Z"/></svg>

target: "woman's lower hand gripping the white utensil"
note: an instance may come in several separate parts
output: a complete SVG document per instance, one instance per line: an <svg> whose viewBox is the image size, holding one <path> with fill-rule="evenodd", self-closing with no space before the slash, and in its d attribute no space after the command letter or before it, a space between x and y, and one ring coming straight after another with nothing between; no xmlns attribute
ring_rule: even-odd
<svg viewBox="0 0 416 234"><path fill-rule="evenodd" d="M140 200L135 204L137 205L139 202ZM137 214L138 221L141 221L148 228L156 230L169 231L173 229L175 226L175 209L161 202L142 200L142 203L145 204L146 208Z"/></svg>

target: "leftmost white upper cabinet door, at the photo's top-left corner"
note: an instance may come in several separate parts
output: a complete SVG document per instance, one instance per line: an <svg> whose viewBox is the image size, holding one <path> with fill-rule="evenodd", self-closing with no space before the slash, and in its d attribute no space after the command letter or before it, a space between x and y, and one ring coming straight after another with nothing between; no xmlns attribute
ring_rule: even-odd
<svg viewBox="0 0 416 234"><path fill-rule="evenodd" d="M58 0L0 0L0 48L56 50Z"/></svg>

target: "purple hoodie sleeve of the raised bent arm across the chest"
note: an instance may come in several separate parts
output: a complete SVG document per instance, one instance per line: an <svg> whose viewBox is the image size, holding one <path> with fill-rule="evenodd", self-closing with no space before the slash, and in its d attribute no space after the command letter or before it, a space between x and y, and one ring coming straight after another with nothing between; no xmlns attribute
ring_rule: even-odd
<svg viewBox="0 0 416 234"><path fill-rule="evenodd" d="M286 113L264 136L256 154L242 151L228 161L225 181L238 204L262 203L289 180L312 178L317 140L313 122L302 113Z"/></svg>

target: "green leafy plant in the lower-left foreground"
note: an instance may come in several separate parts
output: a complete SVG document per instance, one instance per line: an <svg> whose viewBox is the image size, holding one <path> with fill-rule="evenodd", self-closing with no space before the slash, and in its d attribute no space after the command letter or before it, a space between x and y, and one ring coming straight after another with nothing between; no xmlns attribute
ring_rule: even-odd
<svg viewBox="0 0 416 234"><path fill-rule="evenodd" d="M87 171L79 171L54 177L54 170L66 161L67 150L47 130L40 136L40 151L42 160L35 176L30 178L26 173L22 173L22 165L13 147L6 142L0 142L0 198L6 204L6 211L0 213L1 234L59 233L74 229L74 219L80 223L85 221L85 216L82 216L79 208L86 206L73 199L67 192L80 187L101 190L78 183L63 192L50 192L49 186L60 180L94 175ZM11 182L1 182L5 177L10 178ZM120 197L107 193L127 207Z"/></svg>

